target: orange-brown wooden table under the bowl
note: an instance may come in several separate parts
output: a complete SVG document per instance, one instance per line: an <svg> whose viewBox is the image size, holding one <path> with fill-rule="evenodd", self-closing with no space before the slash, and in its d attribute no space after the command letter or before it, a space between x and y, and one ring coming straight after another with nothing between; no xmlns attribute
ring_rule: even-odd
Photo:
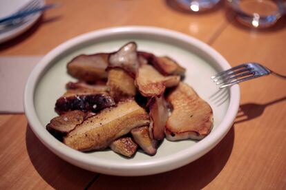
<svg viewBox="0 0 286 190"><path fill-rule="evenodd" d="M28 32L0 45L0 56L43 55L99 28L152 25L195 36L233 66L255 61L286 74L285 17L254 30L223 5L190 14L164 0L57 2L61 7L45 12ZM286 81L268 76L240 87L240 112L227 136L195 162L153 176L106 176L70 165L41 144L24 114L1 114L0 189L286 189Z"/></svg>

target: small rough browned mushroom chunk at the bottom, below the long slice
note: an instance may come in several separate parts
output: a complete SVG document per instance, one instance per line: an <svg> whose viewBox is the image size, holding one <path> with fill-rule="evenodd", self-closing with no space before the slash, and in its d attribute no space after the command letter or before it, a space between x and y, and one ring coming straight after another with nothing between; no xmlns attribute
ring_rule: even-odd
<svg viewBox="0 0 286 190"><path fill-rule="evenodd" d="M117 154L131 157L135 154L138 145L130 137L124 137L114 140L109 147Z"/></svg>

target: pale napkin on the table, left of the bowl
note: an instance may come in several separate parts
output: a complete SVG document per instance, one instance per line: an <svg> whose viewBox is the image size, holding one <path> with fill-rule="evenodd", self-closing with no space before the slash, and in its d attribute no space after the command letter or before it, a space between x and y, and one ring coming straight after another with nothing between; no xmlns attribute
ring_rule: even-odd
<svg viewBox="0 0 286 190"><path fill-rule="evenodd" d="M0 113L23 113L23 90L42 56L0 56Z"/></svg>

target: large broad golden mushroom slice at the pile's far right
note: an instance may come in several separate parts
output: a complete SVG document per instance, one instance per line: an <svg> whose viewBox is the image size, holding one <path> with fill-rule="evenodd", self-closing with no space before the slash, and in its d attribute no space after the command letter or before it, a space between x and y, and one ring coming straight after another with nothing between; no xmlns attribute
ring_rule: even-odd
<svg viewBox="0 0 286 190"><path fill-rule="evenodd" d="M166 122L166 139L200 140L211 132L213 111L189 85L180 83L166 96L173 112Z"/></svg>

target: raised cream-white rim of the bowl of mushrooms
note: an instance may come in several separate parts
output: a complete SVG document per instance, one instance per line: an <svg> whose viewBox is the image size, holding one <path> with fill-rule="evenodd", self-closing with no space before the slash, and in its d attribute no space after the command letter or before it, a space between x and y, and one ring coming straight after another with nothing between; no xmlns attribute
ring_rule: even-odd
<svg viewBox="0 0 286 190"><path fill-rule="evenodd" d="M44 58L41 59L41 61L39 61L36 67L32 70L30 76L28 77L28 81L23 93L23 107L26 117L28 118L30 128L35 133L37 138L39 138L39 140L41 140L41 142L46 147L48 147L50 151L53 151L53 153L60 158L63 158L64 160L72 163L73 165L77 165L78 167L99 173L106 173L117 176L144 176L161 173L164 171L170 171L200 158L215 145L217 145L218 142L222 140L222 138L231 128L231 125L236 118L240 103L240 89L238 85L229 87L229 107L227 108L225 118L223 118L220 125L216 127L216 130L212 131L209 136L196 143L196 145L193 145L182 151L178 151L175 154L165 156L164 158L153 158L147 161L130 163L118 163L116 161L106 160L103 158L95 159L93 156L84 154L80 151L76 151L62 144L57 139L53 138L53 136L51 136L48 131L46 131L46 128L41 125L35 110L35 89L42 74L45 72L46 67L53 62L53 59L68 50L70 47L84 43L90 39L97 39L112 34L126 33L151 35L160 34L162 36L187 41L187 43L190 43L194 47L198 47L203 52L209 54L209 56L211 56L216 61L216 63L222 67L223 70L227 70L231 67L222 55L220 55L218 52L216 52L216 50L214 50L206 43L195 39L192 36L188 36L187 34L182 34L173 30L147 26L124 26L104 28L101 30L88 32L86 34L76 36L75 38L61 43L61 45L55 47L55 49L48 52L48 54L46 54L46 56L44 56Z"/></svg>

